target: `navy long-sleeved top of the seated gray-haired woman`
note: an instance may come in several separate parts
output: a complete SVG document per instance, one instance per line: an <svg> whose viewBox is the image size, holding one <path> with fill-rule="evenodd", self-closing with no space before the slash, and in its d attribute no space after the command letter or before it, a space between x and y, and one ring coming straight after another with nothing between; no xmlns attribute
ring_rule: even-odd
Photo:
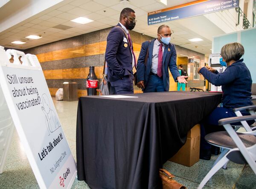
<svg viewBox="0 0 256 189"><path fill-rule="evenodd" d="M244 59L234 62L223 73L212 73L203 67L200 73L210 83L221 86L224 108L238 108L253 105L251 99L252 79Z"/></svg>

